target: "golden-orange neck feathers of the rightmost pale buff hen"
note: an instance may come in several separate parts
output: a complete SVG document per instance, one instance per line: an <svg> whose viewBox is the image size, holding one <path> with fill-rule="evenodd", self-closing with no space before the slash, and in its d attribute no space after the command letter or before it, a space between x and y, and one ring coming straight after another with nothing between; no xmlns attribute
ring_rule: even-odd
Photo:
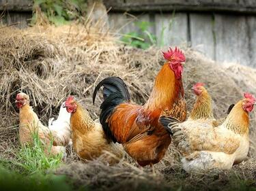
<svg viewBox="0 0 256 191"><path fill-rule="evenodd" d="M249 117L248 113L242 108L242 101L236 103L223 125L240 135L248 133Z"/></svg>

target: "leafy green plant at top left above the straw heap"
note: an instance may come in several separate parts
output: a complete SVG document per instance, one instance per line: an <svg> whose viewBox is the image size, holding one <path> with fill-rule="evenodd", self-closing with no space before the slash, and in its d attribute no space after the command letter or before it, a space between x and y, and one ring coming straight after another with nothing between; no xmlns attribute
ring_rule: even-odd
<svg viewBox="0 0 256 191"><path fill-rule="evenodd" d="M79 16L85 16L86 7L85 0L34 0L34 14L31 23L35 24L38 19L36 18L38 14L35 14L37 10L42 11L49 22L60 25L79 18Z"/></svg>

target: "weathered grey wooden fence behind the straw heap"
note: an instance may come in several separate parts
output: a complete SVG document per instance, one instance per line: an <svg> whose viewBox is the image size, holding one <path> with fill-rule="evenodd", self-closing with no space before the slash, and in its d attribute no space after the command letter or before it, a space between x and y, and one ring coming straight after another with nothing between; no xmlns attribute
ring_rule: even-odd
<svg viewBox="0 0 256 191"><path fill-rule="evenodd" d="M25 27L31 18L29 0L6 9L4 22L20 22ZM148 31L157 44L188 44L220 62L233 62L256 68L256 1L255 0L109 0L109 22L119 33L138 31L135 22L152 23ZM22 7L22 8L20 8ZM1 8L0 8L1 10ZM2 8L3 10L3 8Z"/></svg>

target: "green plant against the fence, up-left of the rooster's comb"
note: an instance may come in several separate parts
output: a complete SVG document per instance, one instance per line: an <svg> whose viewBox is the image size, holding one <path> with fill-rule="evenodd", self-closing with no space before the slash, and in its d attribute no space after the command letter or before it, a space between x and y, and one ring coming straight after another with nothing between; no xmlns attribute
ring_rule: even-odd
<svg viewBox="0 0 256 191"><path fill-rule="evenodd" d="M150 22L140 21L135 22L138 31L132 31L126 33L122 37L121 41L130 46L147 49L150 46L156 45L156 36L148 31L149 27L152 25Z"/></svg>

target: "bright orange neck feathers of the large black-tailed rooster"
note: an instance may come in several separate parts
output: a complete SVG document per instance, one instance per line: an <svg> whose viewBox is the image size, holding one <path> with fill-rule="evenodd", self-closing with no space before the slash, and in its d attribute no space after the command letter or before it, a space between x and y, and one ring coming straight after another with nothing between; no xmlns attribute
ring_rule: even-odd
<svg viewBox="0 0 256 191"><path fill-rule="evenodd" d="M165 63L156 76L150 98L143 108L150 111L154 111L155 109L171 109L180 93L184 97L182 79L177 80L174 72L169 67L169 63Z"/></svg>

